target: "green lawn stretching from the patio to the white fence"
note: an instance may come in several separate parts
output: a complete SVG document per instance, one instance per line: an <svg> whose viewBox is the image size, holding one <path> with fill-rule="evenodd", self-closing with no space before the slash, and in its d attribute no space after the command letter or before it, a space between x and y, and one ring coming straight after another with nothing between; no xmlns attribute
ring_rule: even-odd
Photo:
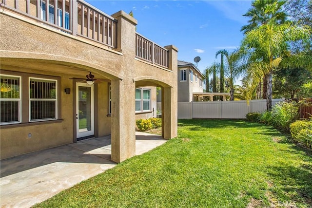
<svg viewBox="0 0 312 208"><path fill-rule="evenodd" d="M178 137L35 207L312 207L312 156L272 127L179 120Z"/></svg>

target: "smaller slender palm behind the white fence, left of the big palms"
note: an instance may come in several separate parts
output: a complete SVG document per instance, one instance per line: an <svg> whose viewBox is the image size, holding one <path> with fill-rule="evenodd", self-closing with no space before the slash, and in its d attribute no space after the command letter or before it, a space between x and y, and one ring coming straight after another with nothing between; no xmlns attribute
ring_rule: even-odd
<svg viewBox="0 0 312 208"><path fill-rule="evenodd" d="M238 50L232 53L229 53L227 50L219 50L215 56L219 54L221 54L221 57L225 56L226 58L225 76L229 79L230 100L234 100L234 82L238 77L242 76L245 65L241 61L241 55Z"/></svg>

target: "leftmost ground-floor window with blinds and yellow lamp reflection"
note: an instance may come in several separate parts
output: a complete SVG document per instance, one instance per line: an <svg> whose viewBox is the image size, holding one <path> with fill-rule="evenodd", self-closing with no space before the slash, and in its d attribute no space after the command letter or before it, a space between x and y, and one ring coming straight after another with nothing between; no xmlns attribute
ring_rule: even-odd
<svg viewBox="0 0 312 208"><path fill-rule="evenodd" d="M0 124L20 123L20 76L0 75Z"/></svg>

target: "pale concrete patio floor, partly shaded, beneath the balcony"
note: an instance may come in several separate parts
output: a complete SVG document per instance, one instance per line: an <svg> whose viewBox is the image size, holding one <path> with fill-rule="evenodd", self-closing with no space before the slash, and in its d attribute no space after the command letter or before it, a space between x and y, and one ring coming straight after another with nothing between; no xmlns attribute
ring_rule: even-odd
<svg viewBox="0 0 312 208"><path fill-rule="evenodd" d="M136 155L167 140L136 132ZM1 160L1 208L27 208L117 164L111 160L110 136L82 140Z"/></svg>

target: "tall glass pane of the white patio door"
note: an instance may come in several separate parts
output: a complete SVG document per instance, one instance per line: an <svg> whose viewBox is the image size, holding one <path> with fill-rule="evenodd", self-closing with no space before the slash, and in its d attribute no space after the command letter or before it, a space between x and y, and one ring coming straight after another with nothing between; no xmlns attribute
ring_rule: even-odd
<svg viewBox="0 0 312 208"><path fill-rule="evenodd" d="M91 131L91 88L79 86L79 132Z"/></svg>

